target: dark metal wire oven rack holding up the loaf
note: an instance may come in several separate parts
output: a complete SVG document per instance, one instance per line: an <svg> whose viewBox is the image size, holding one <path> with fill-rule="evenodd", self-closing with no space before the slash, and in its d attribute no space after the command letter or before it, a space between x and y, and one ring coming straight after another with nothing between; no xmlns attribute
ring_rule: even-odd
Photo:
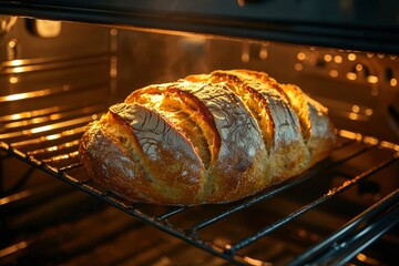
<svg viewBox="0 0 399 266"><path fill-rule="evenodd" d="M338 195L345 193L354 186L359 186L365 180L376 174L383 173L386 168L398 163L399 145L379 141L375 137L365 136L345 130L338 130L338 145L331 156L303 175L291 178L276 186L244 198L242 201L207 206L155 206L141 203L130 203L119 197L114 193L95 184L85 174L83 165L78 158L79 139L83 133L88 122L96 119L101 114L101 108L85 108L82 116L65 119L63 121L51 121L47 124L21 123L16 127L7 126L10 122L10 115L0 117L0 150L6 151L9 156L17 157L27 164L33 165L70 185L84 191L101 201L105 201L116 208L153 225L154 227L191 243L214 255L223 257L238 265L267 265L256 257L246 254L248 247L262 242L263 237L293 223L293 221L303 216L328 202L334 201ZM73 114L75 112L68 111ZM68 117L65 111L65 116ZM51 115L50 113L47 115ZM33 121L32 117L24 119ZM14 123L14 122L12 122ZM31 127L27 127L27 124ZM35 126L35 127L32 127ZM356 146L355 150L351 147ZM350 150L350 152L346 150ZM344 152L342 152L344 151ZM267 225L262 225L256 232L250 232L241 236L234 242L212 239L212 237L202 236L202 232L218 223L229 219L237 213L243 213L253 208L263 202L277 196L286 191L311 181L328 176L336 167L345 166L349 161L362 156L365 153L385 151L388 153L381 162L369 165L360 173L346 177L346 181L334 187L324 191L321 195L308 201L298 208L288 213ZM358 215L354 215L348 222L341 225L328 237L315 242L310 247L301 253L300 256L293 258L290 265L318 264L318 263L338 263L348 262L360 250L371 244L371 242L383 235L392 228L399 221L399 188L393 188L383 198L376 201ZM216 211L215 211L216 209ZM181 226L176 217L183 217L204 213L200 219L190 222L190 225ZM211 213L211 214L209 214ZM175 221L176 219L176 221ZM184 223L183 223L184 224ZM361 232L361 233L360 233ZM250 250L250 248L249 248Z"/></svg>

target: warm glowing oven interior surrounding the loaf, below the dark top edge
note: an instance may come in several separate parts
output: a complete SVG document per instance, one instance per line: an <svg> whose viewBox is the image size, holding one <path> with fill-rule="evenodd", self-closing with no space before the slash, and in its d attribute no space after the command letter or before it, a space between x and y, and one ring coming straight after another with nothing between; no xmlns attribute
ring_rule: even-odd
<svg viewBox="0 0 399 266"><path fill-rule="evenodd" d="M8 17L0 33L4 265L393 265L396 54ZM84 126L133 90L216 69L265 71L329 109L332 154L242 201L129 203L78 158Z"/></svg>

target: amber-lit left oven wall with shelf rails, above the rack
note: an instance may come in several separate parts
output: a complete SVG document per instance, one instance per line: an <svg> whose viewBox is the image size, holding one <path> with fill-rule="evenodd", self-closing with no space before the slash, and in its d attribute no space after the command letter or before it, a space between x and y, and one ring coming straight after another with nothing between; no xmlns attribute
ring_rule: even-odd
<svg viewBox="0 0 399 266"><path fill-rule="evenodd" d="M108 28L18 18L0 34L0 112L85 102L93 90L108 96L110 58Z"/></svg>

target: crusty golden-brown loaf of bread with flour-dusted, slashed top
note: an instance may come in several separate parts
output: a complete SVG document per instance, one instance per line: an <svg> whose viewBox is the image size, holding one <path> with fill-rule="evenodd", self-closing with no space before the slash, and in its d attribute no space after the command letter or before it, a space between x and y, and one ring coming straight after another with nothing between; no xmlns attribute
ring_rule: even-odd
<svg viewBox="0 0 399 266"><path fill-rule="evenodd" d="M327 109L263 72L214 71L134 91L88 125L80 157L134 202L227 203L306 171L335 144Z"/></svg>

